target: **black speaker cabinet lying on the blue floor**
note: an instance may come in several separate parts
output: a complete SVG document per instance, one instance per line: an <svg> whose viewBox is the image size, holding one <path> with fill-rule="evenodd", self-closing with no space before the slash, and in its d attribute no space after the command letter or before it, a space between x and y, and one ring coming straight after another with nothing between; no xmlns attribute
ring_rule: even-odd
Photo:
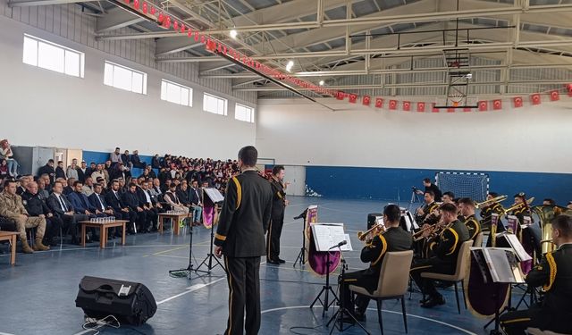
<svg viewBox="0 0 572 335"><path fill-rule="evenodd" d="M145 323L157 310L155 297L139 282L88 276L80 281L75 306L88 317L114 315L120 322L134 325Z"/></svg>

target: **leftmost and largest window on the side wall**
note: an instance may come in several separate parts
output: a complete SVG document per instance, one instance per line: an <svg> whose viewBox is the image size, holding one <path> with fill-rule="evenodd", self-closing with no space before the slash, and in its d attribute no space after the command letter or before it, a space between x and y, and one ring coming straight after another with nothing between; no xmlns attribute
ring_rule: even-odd
<svg viewBox="0 0 572 335"><path fill-rule="evenodd" d="M24 34L22 62L68 76L83 78L85 54Z"/></svg>

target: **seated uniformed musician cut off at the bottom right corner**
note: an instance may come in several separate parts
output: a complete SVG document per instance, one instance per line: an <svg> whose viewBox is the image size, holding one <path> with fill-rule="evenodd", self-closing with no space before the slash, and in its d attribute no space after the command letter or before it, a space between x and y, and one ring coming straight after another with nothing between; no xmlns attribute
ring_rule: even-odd
<svg viewBox="0 0 572 335"><path fill-rule="evenodd" d="M559 215L552 220L552 242L558 249L543 256L526 276L532 287L543 287L542 303L529 309L501 315L501 327L509 335L526 334L526 328L572 333L572 218Z"/></svg>

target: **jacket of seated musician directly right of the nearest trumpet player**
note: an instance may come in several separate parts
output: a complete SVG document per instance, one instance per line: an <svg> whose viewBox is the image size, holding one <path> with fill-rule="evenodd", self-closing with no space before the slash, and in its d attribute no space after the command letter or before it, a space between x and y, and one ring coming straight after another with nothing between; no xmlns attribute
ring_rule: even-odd
<svg viewBox="0 0 572 335"><path fill-rule="evenodd" d="M449 228L442 230L441 234L431 242L429 248L433 251L433 255L444 261L455 263L461 244L468 239L467 226L456 220Z"/></svg>

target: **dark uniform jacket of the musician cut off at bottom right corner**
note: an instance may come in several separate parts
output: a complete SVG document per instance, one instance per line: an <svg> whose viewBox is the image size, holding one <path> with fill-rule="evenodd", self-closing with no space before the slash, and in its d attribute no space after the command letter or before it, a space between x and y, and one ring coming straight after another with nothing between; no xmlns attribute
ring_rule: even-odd
<svg viewBox="0 0 572 335"><path fill-rule="evenodd" d="M528 272L526 283L542 286L546 292L542 308L533 314L539 328L572 333L572 244L544 255L541 263Z"/></svg>

